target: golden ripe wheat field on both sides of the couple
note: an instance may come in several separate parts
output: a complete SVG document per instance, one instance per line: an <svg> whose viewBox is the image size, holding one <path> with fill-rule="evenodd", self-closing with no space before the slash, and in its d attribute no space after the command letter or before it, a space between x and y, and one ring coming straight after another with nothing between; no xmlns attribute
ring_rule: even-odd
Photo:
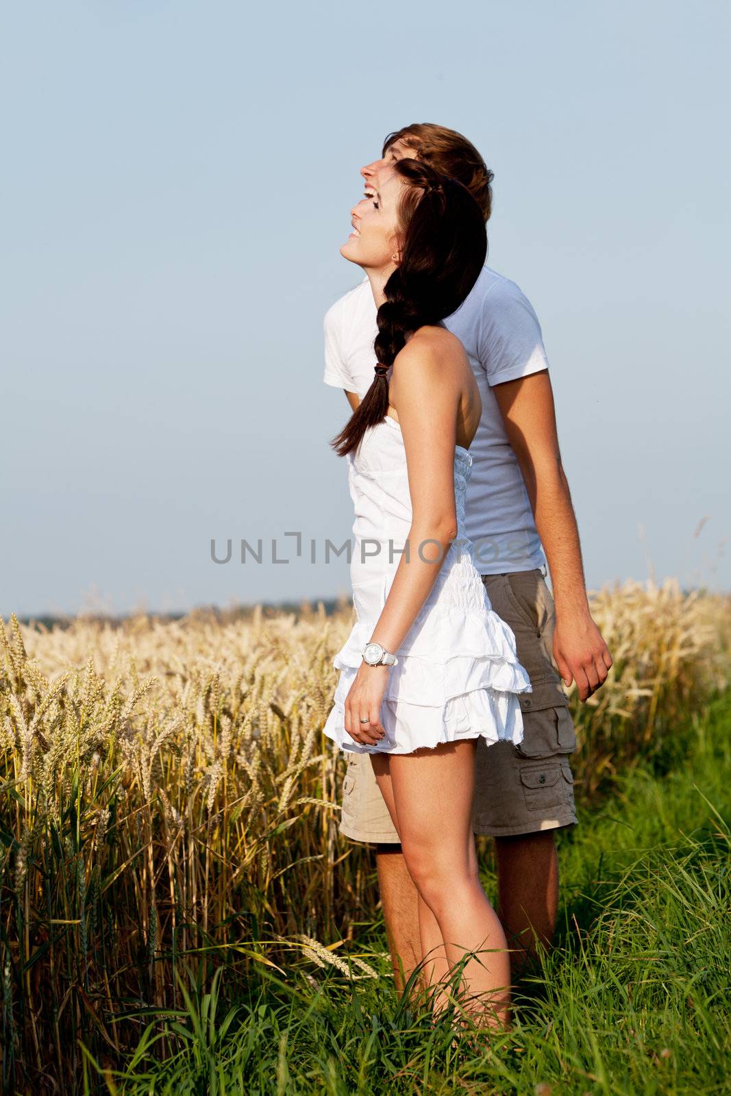
<svg viewBox="0 0 731 1096"><path fill-rule="evenodd" d="M728 687L731 598L629 582L591 596L614 665L571 696L592 801ZM343 604L298 613L0 620L0 977L5 1091L82 1091L189 982L334 966L365 982L368 850L338 834L323 738ZM167 1032L158 1051L174 1049Z"/></svg>

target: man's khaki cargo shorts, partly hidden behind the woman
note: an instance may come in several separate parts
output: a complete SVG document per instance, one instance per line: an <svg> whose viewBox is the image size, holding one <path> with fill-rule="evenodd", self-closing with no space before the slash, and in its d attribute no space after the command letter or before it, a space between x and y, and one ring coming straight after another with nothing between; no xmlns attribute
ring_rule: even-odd
<svg viewBox="0 0 731 1096"><path fill-rule="evenodd" d="M519 697L523 743L478 741L475 833L511 837L575 825L573 720L552 659L553 597L542 569L482 575L490 604L513 629L533 692ZM369 754L349 753L340 832L353 841L398 844Z"/></svg>

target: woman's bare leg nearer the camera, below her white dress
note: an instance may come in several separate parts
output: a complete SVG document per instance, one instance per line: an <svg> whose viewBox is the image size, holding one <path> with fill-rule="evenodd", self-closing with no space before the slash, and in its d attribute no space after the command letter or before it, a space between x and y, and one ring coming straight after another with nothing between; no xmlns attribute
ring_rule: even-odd
<svg viewBox="0 0 731 1096"><path fill-rule="evenodd" d="M448 966L462 960L466 951L480 952L466 961L462 972L462 987L472 998L469 1011L488 1026L505 1026L510 956L480 884L473 850L476 744L468 739L390 755L388 784L403 856L434 915ZM427 934L431 938L431 929Z"/></svg>

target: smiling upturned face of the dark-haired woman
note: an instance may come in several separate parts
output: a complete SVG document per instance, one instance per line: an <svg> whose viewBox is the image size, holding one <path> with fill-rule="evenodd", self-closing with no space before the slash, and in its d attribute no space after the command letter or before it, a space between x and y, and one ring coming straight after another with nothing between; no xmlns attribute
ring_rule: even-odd
<svg viewBox="0 0 731 1096"><path fill-rule="evenodd" d="M364 270L385 270L398 261L398 206L406 182L396 172L381 175L378 190L351 209L353 231L340 249Z"/></svg>

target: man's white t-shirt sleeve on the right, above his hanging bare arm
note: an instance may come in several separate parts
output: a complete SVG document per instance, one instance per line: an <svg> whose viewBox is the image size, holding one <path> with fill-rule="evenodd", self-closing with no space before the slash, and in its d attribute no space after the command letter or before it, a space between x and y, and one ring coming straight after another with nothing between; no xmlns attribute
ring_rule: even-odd
<svg viewBox="0 0 731 1096"><path fill-rule="evenodd" d="M478 350L491 386L548 368L538 317L514 282L486 294Z"/></svg>

